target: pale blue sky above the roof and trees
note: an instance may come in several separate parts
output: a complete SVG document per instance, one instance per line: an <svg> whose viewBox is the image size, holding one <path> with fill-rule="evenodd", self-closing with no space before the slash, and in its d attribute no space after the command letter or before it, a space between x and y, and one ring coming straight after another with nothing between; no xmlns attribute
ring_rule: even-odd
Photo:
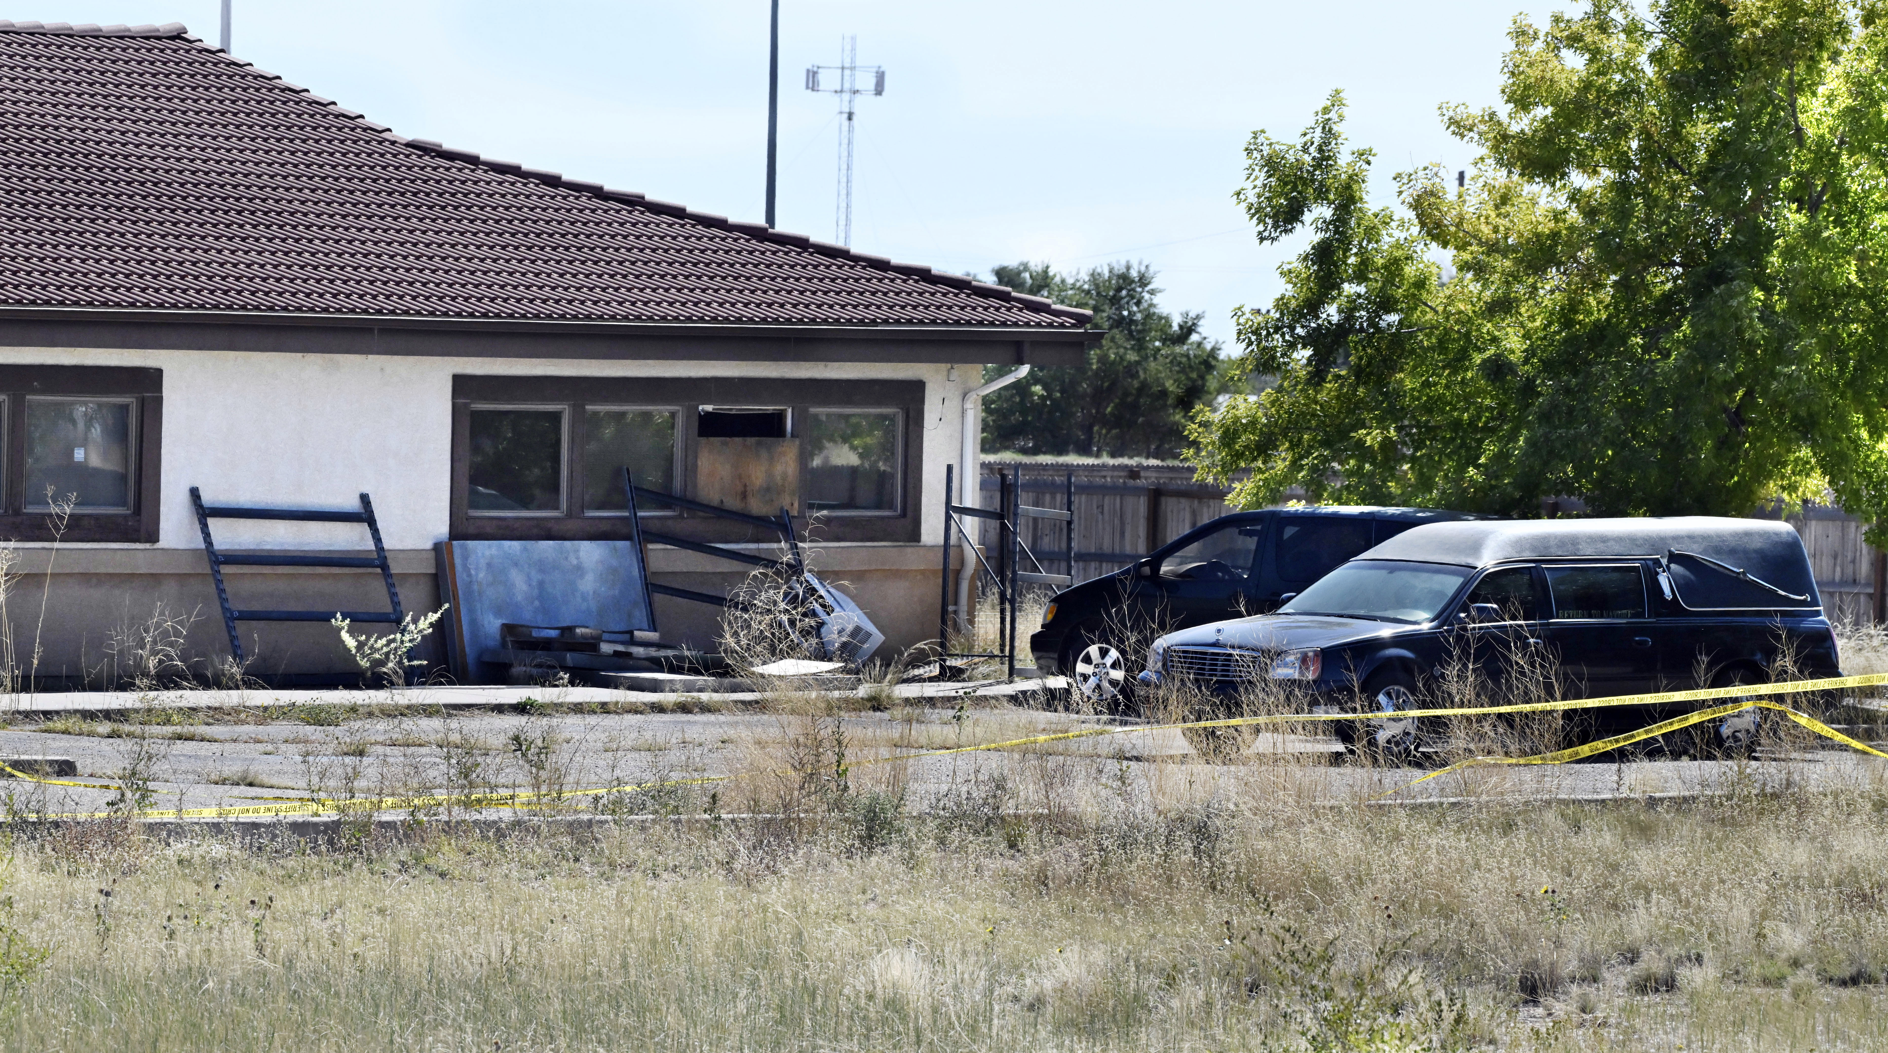
<svg viewBox="0 0 1888 1053"><path fill-rule="evenodd" d="M1254 128L1295 136L1333 87L1390 174L1469 147L1442 102L1497 102L1516 13L1571 4L784 0L780 226L833 240L836 119L802 89L842 34L887 68L859 102L853 245L957 272L1118 259L1206 315L1278 291L1233 191ZM11 19L181 21L217 0L38 0ZM738 219L763 217L767 0L236 0L234 53L391 125Z"/></svg>

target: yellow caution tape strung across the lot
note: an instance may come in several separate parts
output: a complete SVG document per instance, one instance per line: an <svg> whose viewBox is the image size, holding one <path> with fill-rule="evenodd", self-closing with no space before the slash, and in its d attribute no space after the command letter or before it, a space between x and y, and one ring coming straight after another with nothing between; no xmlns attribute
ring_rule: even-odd
<svg viewBox="0 0 1888 1053"><path fill-rule="evenodd" d="M1871 753L1875 757L1888 759L1882 753L1863 742L1845 736L1843 732L1816 721L1807 713L1799 713L1788 706L1777 702L1762 702L1752 696L1758 694L1807 694L1814 691L1841 691L1845 687L1873 687L1888 683L1888 674L1869 674L1869 676L1841 676L1824 679L1799 679L1788 683L1752 683L1737 687L1703 687L1695 691L1660 691L1646 694L1614 694L1607 698L1575 698L1565 702L1518 702L1510 706L1456 706L1456 708L1437 708L1437 710L1393 710L1393 711L1359 711L1359 713L1271 713L1263 717L1223 717L1214 721L1184 721L1172 725L1116 725L1116 727L1095 727L1095 728L1076 728L1069 732L1035 734L1027 738L1012 738L1004 742L986 742L980 745L955 745L948 749L923 749L918 753L899 753L891 757L867 757L861 760L848 762L848 768L859 768L867 764L889 764L893 760L921 760L927 757L950 757L955 753L984 753L991 749L1014 749L1020 745L1042 745L1048 742L1069 742L1076 738L1099 738L1110 734L1133 734L1133 732L1155 732L1155 730L1182 730L1182 728L1231 728L1231 727L1254 727L1254 725L1299 725L1299 723L1327 723L1327 721L1371 721L1371 719L1416 719L1416 717L1484 717L1499 713L1544 713L1558 710L1601 710L1614 706L1648 706L1660 702L1709 702L1716 698L1737 698L1739 702L1729 706L1714 706L1709 710L1697 710L1694 713L1684 713L1669 721L1660 721L1646 728L1603 738L1599 742L1590 742L1586 745L1576 745L1571 749L1559 749L1554 753L1541 753L1537 757L1475 757L1459 764L1450 764L1437 772L1429 772L1420 779L1414 779L1403 787L1388 793L1399 793L1416 783L1433 779L1437 776L1446 776L1450 772L1459 772L1476 764L1565 764L1569 760L1580 760L1595 753L1605 753L1609 749L1618 749L1622 745L1631 745L1646 738L1667 734L1671 730L1686 728L1703 721L1737 713L1741 710L1763 708L1777 710L1788 715L1797 725L1805 728L1841 742L1852 749ZM123 787L100 785L100 783L81 783L74 779L49 779L40 776L28 776L8 764L0 764L8 776L15 779L25 779L40 785L53 787L77 787L77 789L96 789L123 793ZM793 774L793 772L780 772ZM683 785L708 785L734 779L736 776L700 776L693 779L663 779L653 783L634 783L634 785L615 785L615 787L587 787L587 789L568 789L568 791L512 791L512 793L466 793L466 794L421 794L421 796L381 796L381 798L357 798L357 800L334 800L334 798L308 798L308 800L285 800L285 798L262 798L278 800L281 804L249 804L249 806L217 806L217 808L151 808L142 810L138 815L149 817L174 817L174 819L247 819L264 815L340 815L340 813L376 813L376 811L400 811L415 808L523 808L538 806L544 802L563 802L566 798L582 796L604 796L612 793L636 793L663 787L683 787ZM1382 794L1388 796L1388 794ZM40 813L30 815L32 819L111 819L119 817L123 811L60 811L60 813Z"/></svg>

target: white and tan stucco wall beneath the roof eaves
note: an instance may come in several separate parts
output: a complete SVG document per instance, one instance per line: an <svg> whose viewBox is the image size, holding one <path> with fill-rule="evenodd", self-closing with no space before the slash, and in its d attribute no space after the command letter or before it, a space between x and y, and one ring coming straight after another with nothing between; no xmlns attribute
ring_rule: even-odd
<svg viewBox="0 0 1888 1053"><path fill-rule="evenodd" d="M935 636L936 549L942 530L944 464L959 449L961 393L982 377L982 366L933 364L782 364L782 362L649 362L649 360L536 360L447 357L357 357L234 351L111 351L111 349L0 349L6 364L155 366L164 370L162 517L155 545L66 545L53 564L43 630L47 668L94 666L113 627L136 623L157 604L174 611L198 610L191 632L206 655L227 651L215 594L202 557L189 487L210 502L353 508L368 491L381 534L393 553L408 610L438 604L430 545L447 536L451 487L453 374L515 376L649 376L649 377L806 377L806 379L921 379L925 381L919 523L925 545L829 545L819 564L853 585L861 606L887 630L895 645ZM950 374L955 377L950 377ZM217 545L362 549L366 534L346 525L278 525L217 521ZM17 545L21 568L32 572L15 589L11 617L21 628L23 596L30 594L34 627L43 583L45 545ZM697 562L700 566L697 566ZM657 581L723 591L738 574L714 560L651 551ZM733 566L733 564L729 564ZM329 574L319 585L323 606L355 596L378 608L385 602L376 576ZM232 576L245 606L313 606L315 589L300 574ZM704 645L712 642L712 608L659 600L665 636ZM259 625L266 666L289 672L340 668L327 627Z"/></svg>

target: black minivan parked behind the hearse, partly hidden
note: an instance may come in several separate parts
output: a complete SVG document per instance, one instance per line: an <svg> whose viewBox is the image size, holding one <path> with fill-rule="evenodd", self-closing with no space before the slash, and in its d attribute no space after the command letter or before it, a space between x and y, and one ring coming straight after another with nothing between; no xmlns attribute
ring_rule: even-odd
<svg viewBox="0 0 1888 1053"><path fill-rule="evenodd" d="M1454 519L1482 517L1371 506L1222 515L1133 566L1059 593L1044 608L1042 630L1029 638L1029 649L1038 670L1067 676L1070 691L1089 702L1114 706L1152 636L1276 610L1371 545L1424 523Z"/></svg>

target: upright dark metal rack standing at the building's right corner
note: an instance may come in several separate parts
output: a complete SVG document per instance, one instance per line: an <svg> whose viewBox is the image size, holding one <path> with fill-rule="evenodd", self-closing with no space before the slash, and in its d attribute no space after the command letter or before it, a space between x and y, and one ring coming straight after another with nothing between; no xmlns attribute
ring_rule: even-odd
<svg viewBox="0 0 1888 1053"><path fill-rule="evenodd" d="M1074 585L1074 472L1065 479L1069 508L1029 508L1023 504L1023 477L1018 472L1016 481L1010 481L1008 472L997 472L999 479L999 500L997 511L987 508L976 508L967 504L955 504L955 464L944 466L944 583L942 600L938 604L938 647L942 649L938 660L944 659L1003 659L1004 676L1016 679L1016 606L1020 600L1020 589L1023 585ZM972 494L969 481L965 483L965 496ZM970 538L972 526L965 525L965 519L987 519L997 523L997 549L1003 553L1003 566L993 568L984 553L970 545L970 555L974 557L974 566L980 572L978 579L989 577L991 585L997 589L997 653L972 653L972 651L950 651L946 640L950 640L950 615L953 604L950 602L952 593L952 532L963 538ZM1021 521L1023 519L1059 519L1069 525L1065 559L1069 562L1069 574L1046 574L1042 560L1029 549L1023 542ZM1023 559L1029 559L1035 570L1025 572ZM1052 557L1054 559L1054 557ZM970 600L972 610L976 598ZM974 630L974 621L970 611L959 611L963 617L963 627Z"/></svg>

